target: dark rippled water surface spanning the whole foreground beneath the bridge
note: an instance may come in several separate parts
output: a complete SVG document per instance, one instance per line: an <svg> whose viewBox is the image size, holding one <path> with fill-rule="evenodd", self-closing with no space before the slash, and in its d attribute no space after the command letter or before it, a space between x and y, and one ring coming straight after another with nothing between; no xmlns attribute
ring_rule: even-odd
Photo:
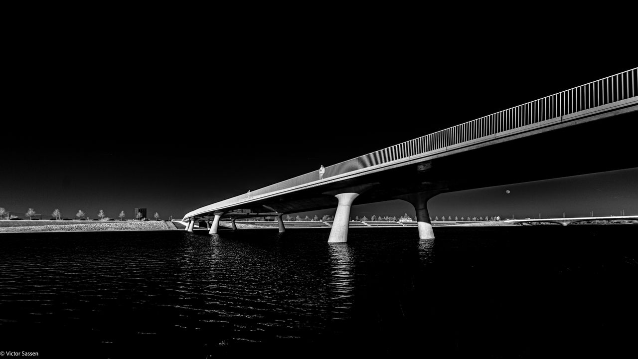
<svg viewBox="0 0 638 359"><path fill-rule="evenodd" d="M0 351L635 353L638 225L0 234Z"/></svg>

